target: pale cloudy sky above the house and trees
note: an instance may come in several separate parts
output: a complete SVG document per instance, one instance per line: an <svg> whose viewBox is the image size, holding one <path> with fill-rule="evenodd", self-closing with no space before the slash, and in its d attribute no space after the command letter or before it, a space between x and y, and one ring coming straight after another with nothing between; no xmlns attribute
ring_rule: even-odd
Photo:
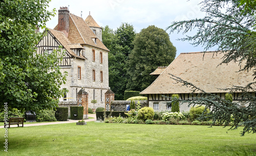
<svg viewBox="0 0 256 156"><path fill-rule="evenodd" d="M134 26L136 33L139 33L149 25L165 30L173 21L203 17L205 13L200 12L198 6L200 2L200 0L188 2L187 0L52 0L49 10L69 6L70 13L77 16L81 16L82 11L83 19L86 19L90 11L101 27L109 25L111 29L116 30L122 22L127 22ZM46 26L53 29L57 25L57 17L56 12L56 16L47 22ZM201 46L194 47L186 41L178 41L178 38L182 38L182 34L171 33L169 36L170 41L177 48L176 57L180 53L203 51Z"/></svg>

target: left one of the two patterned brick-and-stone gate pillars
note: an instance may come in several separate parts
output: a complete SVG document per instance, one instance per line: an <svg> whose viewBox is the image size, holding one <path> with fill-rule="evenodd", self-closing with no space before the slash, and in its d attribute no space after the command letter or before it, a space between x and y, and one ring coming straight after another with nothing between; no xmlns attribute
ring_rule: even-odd
<svg viewBox="0 0 256 156"><path fill-rule="evenodd" d="M88 119L88 93L83 88L77 93L77 105L83 107L83 119Z"/></svg>

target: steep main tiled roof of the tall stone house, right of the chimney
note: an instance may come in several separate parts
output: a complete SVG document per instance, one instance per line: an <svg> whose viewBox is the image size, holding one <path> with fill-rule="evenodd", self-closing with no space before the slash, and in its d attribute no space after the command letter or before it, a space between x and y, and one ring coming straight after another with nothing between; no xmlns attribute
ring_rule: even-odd
<svg viewBox="0 0 256 156"><path fill-rule="evenodd" d="M54 30L57 30L56 26ZM96 38L96 43L93 39ZM90 29L89 25L76 15L70 14L69 17L69 35L68 39L73 44L87 44L109 51L109 49L97 38Z"/></svg>

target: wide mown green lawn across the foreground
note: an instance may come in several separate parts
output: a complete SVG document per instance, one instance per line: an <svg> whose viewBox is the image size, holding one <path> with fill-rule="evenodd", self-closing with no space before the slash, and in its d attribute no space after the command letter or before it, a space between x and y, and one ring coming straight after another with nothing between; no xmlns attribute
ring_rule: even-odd
<svg viewBox="0 0 256 156"><path fill-rule="evenodd" d="M256 135L242 128L87 122L8 129L8 155L235 155L256 153ZM4 143L5 129L0 129ZM226 133L227 132L227 133ZM7 155L3 143L0 155ZM242 155L242 153L240 153Z"/></svg>

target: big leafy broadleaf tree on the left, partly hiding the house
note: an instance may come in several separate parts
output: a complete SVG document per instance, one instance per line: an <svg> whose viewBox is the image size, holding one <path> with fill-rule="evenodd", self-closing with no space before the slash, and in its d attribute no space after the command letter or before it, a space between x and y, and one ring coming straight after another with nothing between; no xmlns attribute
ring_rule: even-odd
<svg viewBox="0 0 256 156"><path fill-rule="evenodd" d="M0 99L9 108L19 110L52 109L62 95L65 83L57 52L37 55L35 45L53 12L47 11L49 0L0 2ZM0 107L3 107L1 104Z"/></svg>

